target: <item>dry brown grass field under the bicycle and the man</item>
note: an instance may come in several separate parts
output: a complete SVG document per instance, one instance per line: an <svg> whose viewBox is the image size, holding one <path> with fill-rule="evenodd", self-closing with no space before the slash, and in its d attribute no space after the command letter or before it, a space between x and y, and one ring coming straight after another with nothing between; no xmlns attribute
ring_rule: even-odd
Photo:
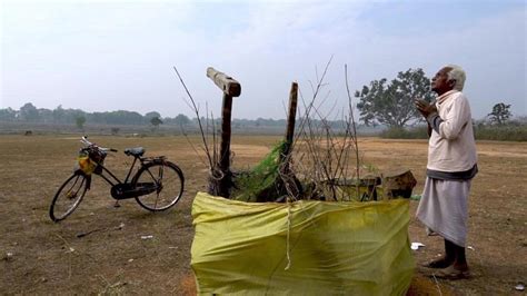
<svg viewBox="0 0 527 296"><path fill-rule="evenodd" d="M235 167L256 164L278 139L235 136ZM115 207L109 186L95 178L79 208L54 224L48 208L72 171L79 137L0 136L0 294L193 294L190 209L196 193L206 190L206 166L182 137L91 140L119 150L106 160L118 176L125 176L131 160L122 154L125 148L142 146L147 155L168 156L185 172L183 198L159 214L133 199ZM411 169L418 179L415 193L420 194L426 141L364 138L359 145L364 161L381 171ZM435 280L417 267L409 295L523 294L515 286L527 282L527 142L483 141L478 155L467 250L473 277ZM414 215L417 201L410 207ZM427 237L414 217L409 234L411 241L426 245L414 251L418 263L441 251L443 241Z"/></svg>

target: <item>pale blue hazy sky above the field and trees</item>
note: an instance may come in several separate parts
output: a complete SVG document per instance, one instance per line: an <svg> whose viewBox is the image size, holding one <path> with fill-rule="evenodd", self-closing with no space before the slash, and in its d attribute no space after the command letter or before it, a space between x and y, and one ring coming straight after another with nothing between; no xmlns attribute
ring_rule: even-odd
<svg viewBox="0 0 527 296"><path fill-rule="evenodd" d="M28 1L0 0L0 108L221 114L213 67L241 83L233 118L286 118L289 89L320 95L331 118L372 80L455 63L473 118L498 102L527 116L524 0ZM357 101L355 100L354 103Z"/></svg>

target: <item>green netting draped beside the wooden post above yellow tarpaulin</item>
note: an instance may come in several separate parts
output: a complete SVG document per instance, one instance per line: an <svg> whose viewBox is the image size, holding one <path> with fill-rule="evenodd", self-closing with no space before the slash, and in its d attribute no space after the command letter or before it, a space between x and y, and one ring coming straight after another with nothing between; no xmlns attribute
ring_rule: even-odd
<svg viewBox="0 0 527 296"><path fill-rule="evenodd" d="M235 178L232 199L257 201L257 197L264 191L272 189L279 177L280 155L285 152L286 148L286 141L278 142L255 168L238 175Z"/></svg>

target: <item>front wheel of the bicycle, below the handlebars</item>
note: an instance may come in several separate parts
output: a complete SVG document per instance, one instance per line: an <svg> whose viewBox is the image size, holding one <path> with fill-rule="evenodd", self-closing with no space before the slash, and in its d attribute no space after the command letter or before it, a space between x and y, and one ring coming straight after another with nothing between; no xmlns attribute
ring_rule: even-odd
<svg viewBox="0 0 527 296"><path fill-rule="evenodd" d="M69 177L53 197L49 208L49 217L53 221L66 219L79 206L88 189L88 179L82 174Z"/></svg>

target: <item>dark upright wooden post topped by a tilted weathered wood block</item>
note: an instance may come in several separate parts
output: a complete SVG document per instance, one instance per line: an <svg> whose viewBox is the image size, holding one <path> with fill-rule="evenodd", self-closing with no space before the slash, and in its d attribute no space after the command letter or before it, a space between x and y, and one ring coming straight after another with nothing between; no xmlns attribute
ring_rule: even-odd
<svg viewBox="0 0 527 296"><path fill-rule="evenodd" d="M218 181L217 186L209 186L215 188L215 193L219 196L229 198L231 187L231 172L230 172L230 121L232 110L232 98L239 97L241 93L241 86L232 77L227 76L216 69L207 68L207 77L209 77L218 88L223 91L223 106L221 110L221 144L220 144L220 159L219 169L222 178ZM216 164L215 164L216 165Z"/></svg>

